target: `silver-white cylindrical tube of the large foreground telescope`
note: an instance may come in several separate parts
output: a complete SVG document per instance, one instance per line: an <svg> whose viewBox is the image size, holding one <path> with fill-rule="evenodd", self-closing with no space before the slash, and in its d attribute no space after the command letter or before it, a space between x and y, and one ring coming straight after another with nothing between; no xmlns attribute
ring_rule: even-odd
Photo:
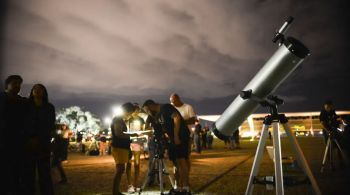
<svg viewBox="0 0 350 195"><path fill-rule="evenodd" d="M309 49L300 41L293 37L286 38L243 91L252 90L255 96L265 99L309 54ZM244 100L238 95L213 124L211 130L220 139L231 136L258 106L258 102L250 99Z"/></svg>

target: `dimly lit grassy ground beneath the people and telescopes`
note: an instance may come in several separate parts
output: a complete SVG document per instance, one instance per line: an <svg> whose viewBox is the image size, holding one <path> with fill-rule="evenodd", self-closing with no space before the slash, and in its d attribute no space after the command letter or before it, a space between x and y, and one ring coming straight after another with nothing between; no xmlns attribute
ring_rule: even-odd
<svg viewBox="0 0 350 195"><path fill-rule="evenodd" d="M341 195L350 194L348 186L349 175L344 168L336 167L334 171L328 166L324 173L320 173L325 144L322 137L302 137L298 142L305 154L322 194ZM201 154L192 153L192 168L190 174L191 190L195 194L244 194L249 174L252 168L254 154L258 140L241 141L241 149L229 150L222 141L216 140L214 149L204 150ZM267 145L271 145L267 141ZM288 140L282 138L282 156L292 157ZM171 170L171 163L167 168ZM147 171L148 160L142 159L141 181ZM328 165L328 163L326 164ZM54 172L55 191L58 195L108 195L112 191L112 181L115 173L113 158L107 156L86 156L78 153L69 153L68 163L64 164L68 176L67 184L58 184L58 174ZM285 176L299 176L302 172L291 166L284 166ZM266 150L259 175L273 175L273 162ZM166 179L166 189L170 188L169 179ZM123 176L123 191L127 190L126 176ZM127 194L127 193L126 193ZM146 187L142 194L159 194L159 185ZM267 190L265 185L255 185L254 194L274 194ZM285 187L285 194L313 194L309 184Z"/></svg>

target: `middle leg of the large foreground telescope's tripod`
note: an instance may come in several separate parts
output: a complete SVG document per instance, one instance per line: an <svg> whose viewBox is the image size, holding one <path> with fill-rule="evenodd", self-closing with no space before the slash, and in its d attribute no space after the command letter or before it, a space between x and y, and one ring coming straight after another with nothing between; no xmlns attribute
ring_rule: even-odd
<svg viewBox="0 0 350 195"><path fill-rule="evenodd" d="M276 194L283 195L283 170L282 170L282 152L281 152L281 138L278 123L272 123L273 128L273 149L274 149L274 158L275 158L275 186Z"/></svg>

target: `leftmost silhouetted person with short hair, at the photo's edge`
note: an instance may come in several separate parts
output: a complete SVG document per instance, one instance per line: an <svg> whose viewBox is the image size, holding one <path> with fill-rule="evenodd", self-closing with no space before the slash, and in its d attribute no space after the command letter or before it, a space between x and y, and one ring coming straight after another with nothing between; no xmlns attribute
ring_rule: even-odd
<svg viewBox="0 0 350 195"><path fill-rule="evenodd" d="M23 131L28 103L18 95L22 82L21 76L10 75L5 80L5 91L0 93L0 152L6 158L0 161L4 178L0 188L4 194L21 194Z"/></svg>

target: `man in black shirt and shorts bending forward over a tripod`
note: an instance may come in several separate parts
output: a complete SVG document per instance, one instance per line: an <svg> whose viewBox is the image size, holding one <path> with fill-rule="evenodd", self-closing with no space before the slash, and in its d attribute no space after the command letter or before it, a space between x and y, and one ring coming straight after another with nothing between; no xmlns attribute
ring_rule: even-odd
<svg viewBox="0 0 350 195"><path fill-rule="evenodd" d="M156 118L169 137L169 159L173 161L178 174L179 186L171 194L191 194L189 185L189 139L190 131L179 111L170 104L158 104L147 100L143 109ZM175 175L176 175L175 174Z"/></svg>

